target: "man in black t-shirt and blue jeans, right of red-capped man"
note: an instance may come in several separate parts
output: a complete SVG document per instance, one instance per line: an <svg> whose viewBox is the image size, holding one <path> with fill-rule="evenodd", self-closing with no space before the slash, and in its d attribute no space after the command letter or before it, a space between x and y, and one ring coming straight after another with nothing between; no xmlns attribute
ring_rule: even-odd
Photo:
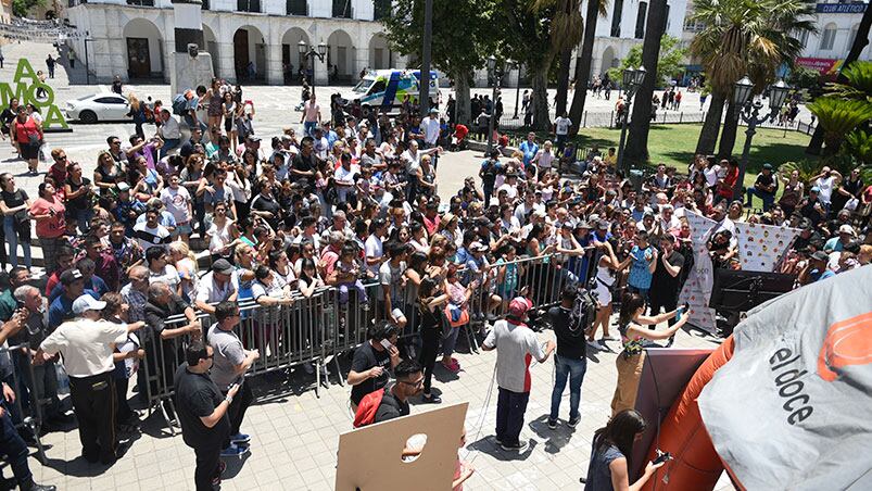
<svg viewBox="0 0 872 491"><path fill-rule="evenodd" d="M557 338L557 354L554 356L554 390L551 394L551 414L548 428L557 428L557 416L560 411L560 399L564 395L567 380L569 381L569 421L574 428L581 419L579 404L581 403L581 382L587 372L587 342L584 338L584 326L580 318L572 316L578 289L568 285L560 293L560 305L548 310L548 318L554 335Z"/></svg>

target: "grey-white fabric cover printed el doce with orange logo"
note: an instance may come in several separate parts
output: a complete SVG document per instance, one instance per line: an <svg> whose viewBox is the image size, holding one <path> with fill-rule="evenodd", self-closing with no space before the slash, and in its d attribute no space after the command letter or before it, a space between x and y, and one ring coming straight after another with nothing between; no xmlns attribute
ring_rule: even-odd
<svg viewBox="0 0 872 491"><path fill-rule="evenodd" d="M753 309L698 398L743 489L869 490L872 266Z"/></svg>

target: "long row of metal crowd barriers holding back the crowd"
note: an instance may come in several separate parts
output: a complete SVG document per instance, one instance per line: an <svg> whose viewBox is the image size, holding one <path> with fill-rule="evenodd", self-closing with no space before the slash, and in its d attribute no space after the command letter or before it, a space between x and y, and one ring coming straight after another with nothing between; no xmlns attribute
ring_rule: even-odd
<svg viewBox="0 0 872 491"><path fill-rule="evenodd" d="M502 318L507 313L509 301L527 294L533 301L530 320L536 324L544 311L560 301L560 292L567 284L586 286L598 254L586 248L581 255L568 253L546 254L538 257L520 256L515 261L497 261L478 270L458 269L457 277L466 294L464 301L450 301L442 309L446 332L452 315L468 315L468 322L459 327L469 350L478 352L479 338L488 320ZM422 274L420 275L424 276ZM379 282L366 282L358 291L353 286L327 287L311 297L295 292L294 301L287 305L258 305L251 299L239 301L240 325L236 332L247 350L257 349L260 358L245 374L247 377L283 370L312 364L315 375L314 389L324 380L323 368L333 362L341 385L344 383L338 356L347 353L368 340L368 329L380 322L402 326L397 342L404 357L417 357L420 349L418 336L419 310L418 285L413 280L391 281L386 298L386 288ZM216 323L214 316L198 312L202 332L206 339L208 329ZM184 315L166 319L164 331L189 324ZM456 323L455 323L456 324ZM140 363L138 377L140 392L146 394L149 414L155 407L161 412L170 432L174 414L173 376L185 361L184 349L191 335L162 339L150 326L139 332L146 358Z"/></svg>

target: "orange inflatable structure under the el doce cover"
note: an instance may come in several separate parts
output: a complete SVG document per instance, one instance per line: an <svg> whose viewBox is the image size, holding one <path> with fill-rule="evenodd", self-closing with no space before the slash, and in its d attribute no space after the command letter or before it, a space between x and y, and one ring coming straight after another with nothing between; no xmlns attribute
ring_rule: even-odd
<svg viewBox="0 0 872 491"><path fill-rule="evenodd" d="M711 353L699 366L687 387L672 404L672 408L660 424L659 441L652 443L647 461L657 457L659 448L669 452L673 461L668 462L648 479L645 491L706 491L715 486L723 471L723 463L711 444L711 439L703 425L696 399L715 376L715 372L733 356L733 337L726 338L721 347ZM645 461L645 462L647 462Z"/></svg>

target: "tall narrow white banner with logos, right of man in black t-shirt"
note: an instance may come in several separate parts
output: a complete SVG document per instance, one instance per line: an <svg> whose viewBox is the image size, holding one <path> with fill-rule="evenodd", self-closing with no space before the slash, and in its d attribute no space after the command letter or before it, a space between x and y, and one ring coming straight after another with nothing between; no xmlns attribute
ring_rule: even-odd
<svg viewBox="0 0 872 491"><path fill-rule="evenodd" d="M685 212L684 216L687 217L687 224L691 226L694 264L679 294L679 305L685 302L690 305L691 317L687 320L690 324L708 332L715 332L717 331L715 310L708 306L711 286L715 282L715 272L706 248L706 240L717 222L690 211Z"/></svg>

